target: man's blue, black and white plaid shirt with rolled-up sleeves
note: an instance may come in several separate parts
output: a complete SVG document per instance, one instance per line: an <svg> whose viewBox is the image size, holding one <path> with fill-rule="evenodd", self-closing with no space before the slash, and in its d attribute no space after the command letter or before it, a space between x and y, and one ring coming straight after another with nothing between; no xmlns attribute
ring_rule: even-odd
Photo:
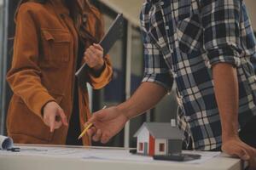
<svg viewBox="0 0 256 170"><path fill-rule="evenodd" d="M250 62L256 58L256 41L241 0L147 0L141 24L143 82L166 89L176 82L179 126L191 134L194 149L221 146L212 65L229 63L237 69L240 127L256 115Z"/></svg>

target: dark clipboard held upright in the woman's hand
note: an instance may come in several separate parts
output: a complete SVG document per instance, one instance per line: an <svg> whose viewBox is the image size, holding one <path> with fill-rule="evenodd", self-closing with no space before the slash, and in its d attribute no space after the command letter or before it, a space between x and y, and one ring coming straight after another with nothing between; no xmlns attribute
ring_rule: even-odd
<svg viewBox="0 0 256 170"><path fill-rule="evenodd" d="M103 56L108 54L109 50L113 47L114 42L116 42L120 37L123 36L124 32L124 17L123 14L118 14L116 19L113 21L113 24L108 29L107 34L102 38L102 41L99 44L103 48ZM79 70L75 73L75 76L78 77L79 83L84 85L86 82L86 71L88 71L88 65L84 63Z"/></svg>

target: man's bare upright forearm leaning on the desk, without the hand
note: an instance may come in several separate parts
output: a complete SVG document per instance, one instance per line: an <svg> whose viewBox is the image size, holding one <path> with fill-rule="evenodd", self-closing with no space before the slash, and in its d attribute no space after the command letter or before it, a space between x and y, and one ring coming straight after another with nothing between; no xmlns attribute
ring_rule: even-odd
<svg viewBox="0 0 256 170"><path fill-rule="evenodd" d="M213 66L212 74L224 141L236 137L238 131L237 73L232 65L217 64Z"/></svg>

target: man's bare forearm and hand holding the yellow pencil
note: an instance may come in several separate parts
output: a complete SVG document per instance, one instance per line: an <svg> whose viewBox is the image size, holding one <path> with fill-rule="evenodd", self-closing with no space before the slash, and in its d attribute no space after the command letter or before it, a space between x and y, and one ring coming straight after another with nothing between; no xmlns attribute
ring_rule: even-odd
<svg viewBox="0 0 256 170"><path fill-rule="evenodd" d="M101 140L102 143L107 143L119 133L129 119L154 107L166 93L166 88L157 83L143 82L131 98L124 103L93 113L85 124L85 127L90 123L94 125L87 131L87 134L93 136L92 139L95 141Z"/></svg>

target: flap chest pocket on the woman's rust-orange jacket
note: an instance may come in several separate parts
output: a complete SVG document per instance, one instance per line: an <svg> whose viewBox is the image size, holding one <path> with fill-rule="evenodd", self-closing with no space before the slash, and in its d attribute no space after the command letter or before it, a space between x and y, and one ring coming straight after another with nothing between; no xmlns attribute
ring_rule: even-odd
<svg viewBox="0 0 256 170"><path fill-rule="evenodd" d="M43 60L55 64L67 63L71 58L72 37L67 31L42 30Z"/></svg>

